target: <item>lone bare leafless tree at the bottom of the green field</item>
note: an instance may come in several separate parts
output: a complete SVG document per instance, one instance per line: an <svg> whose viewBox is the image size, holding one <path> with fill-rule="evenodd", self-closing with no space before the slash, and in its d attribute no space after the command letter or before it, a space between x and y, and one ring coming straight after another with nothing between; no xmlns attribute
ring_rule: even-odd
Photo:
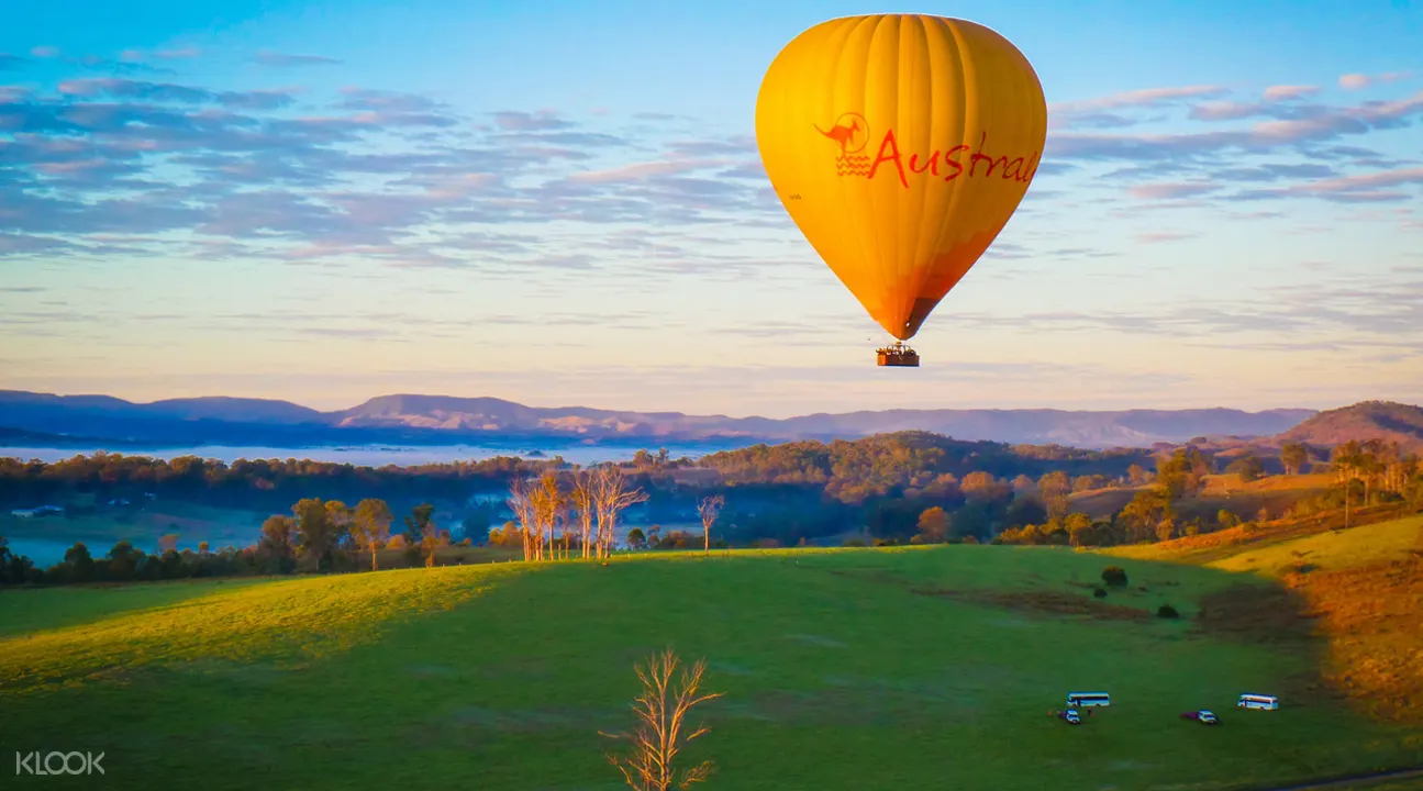
<svg viewBox="0 0 1423 791"><path fill-rule="evenodd" d="M682 671L680 689L676 691L669 689L672 674L677 669L677 656L672 649L653 654L646 667L635 666L635 669L638 680L642 681L642 694L632 706L638 726L632 733L602 734L630 743L628 754L608 755L608 763L618 767L628 785L636 791L690 788L693 784L704 781L714 768L712 761L702 761L679 773L676 758L687 743L707 733L706 727L699 727L692 734L683 736L682 731L687 727L687 713L692 711L693 706L723 694L699 693L706 660L699 659L690 671Z"/></svg>

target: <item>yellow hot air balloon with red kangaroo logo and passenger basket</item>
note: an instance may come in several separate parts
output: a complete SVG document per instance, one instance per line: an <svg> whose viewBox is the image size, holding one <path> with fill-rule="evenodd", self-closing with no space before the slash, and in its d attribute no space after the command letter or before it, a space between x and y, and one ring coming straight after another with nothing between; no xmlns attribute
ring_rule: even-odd
<svg viewBox="0 0 1423 791"><path fill-rule="evenodd" d="M904 346L988 250L1037 172L1047 104L1027 58L980 24L834 18L771 61L756 142L776 195L841 283Z"/></svg>

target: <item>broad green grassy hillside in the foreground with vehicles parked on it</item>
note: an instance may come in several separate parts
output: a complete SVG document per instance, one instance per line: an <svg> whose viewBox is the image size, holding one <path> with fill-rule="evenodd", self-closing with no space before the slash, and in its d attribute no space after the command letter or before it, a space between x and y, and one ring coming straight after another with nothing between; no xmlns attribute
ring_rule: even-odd
<svg viewBox="0 0 1423 791"><path fill-rule="evenodd" d="M1099 607L1107 562L1131 590ZM598 731L630 726L632 664L670 646L726 693L686 754L717 763L709 790L1255 788L1423 754L1419 728L1282 691L1311 652L1201 633L1195 599L1239 583L1269 585L933 546L11 590L0 744L105 751L107 788L612 791ZM1164 602L1187 619L1147 615ZM1097 689L1086 724L1047 716ZM1237 713L1242 691L1284 707ZM1197 707L1224 726L1178 718ZM7 788L41 785L92 781Z"/></svg>

